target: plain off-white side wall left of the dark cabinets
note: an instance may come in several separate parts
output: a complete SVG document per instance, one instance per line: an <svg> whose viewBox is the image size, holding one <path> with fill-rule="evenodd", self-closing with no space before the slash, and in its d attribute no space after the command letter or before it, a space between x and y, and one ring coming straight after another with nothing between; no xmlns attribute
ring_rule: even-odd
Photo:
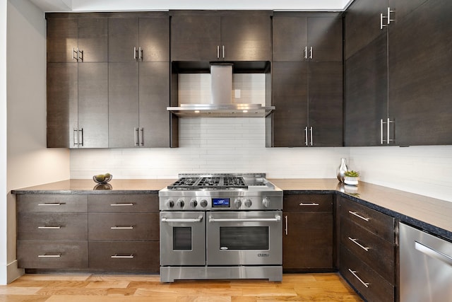
<svg viewBox="0 0 452 302"><path fill-rule="evenodd" d="M20 274L16 264L16 199L9 192L69 178L69 151L46 148L44 13L27 0L8 0L7 8L7 211L0 212L0 220L7 221L8 232L0 245L8 248L8 275L1 283Z"/></svg>

